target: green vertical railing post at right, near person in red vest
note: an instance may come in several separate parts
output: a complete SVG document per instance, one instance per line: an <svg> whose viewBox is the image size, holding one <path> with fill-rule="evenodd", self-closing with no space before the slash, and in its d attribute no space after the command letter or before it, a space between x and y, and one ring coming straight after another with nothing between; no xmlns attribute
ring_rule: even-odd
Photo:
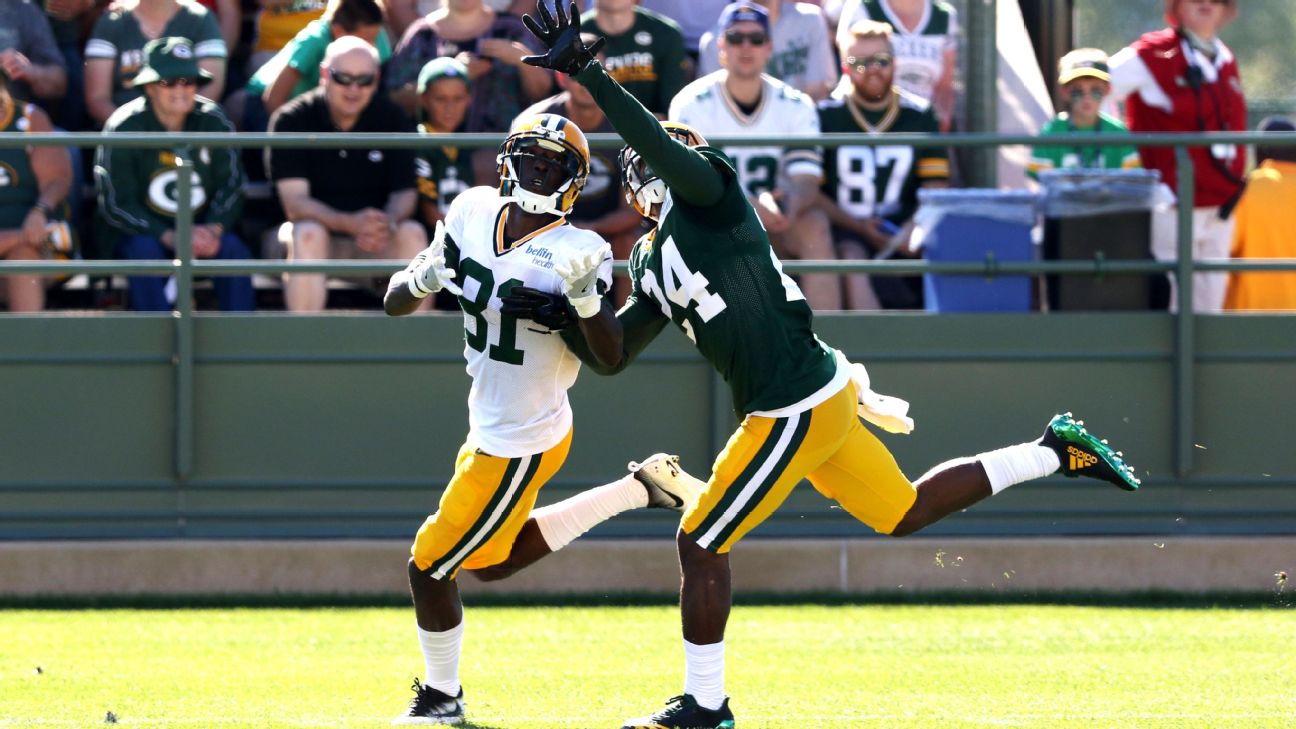
<svg viewBox="0 0 1296 729"><path fill-rule="evenodd" d="M1178 258L1174 280L1179 309L1174 315L1174 472L1183 477L1192 471L1192 381L1196 359L1192 307L1192 156L1183 144L1174 145L1175 185L1179 193Z"/></svg>

